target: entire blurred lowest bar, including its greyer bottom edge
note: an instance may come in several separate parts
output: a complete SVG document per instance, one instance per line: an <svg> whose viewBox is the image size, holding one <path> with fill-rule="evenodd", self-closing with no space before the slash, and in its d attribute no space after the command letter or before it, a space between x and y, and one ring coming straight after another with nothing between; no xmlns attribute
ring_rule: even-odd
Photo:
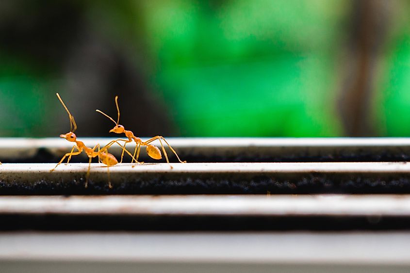
<svg viewBox="0 0 410 273"><path fill-rule="evenodd" d="M96 268L102 270L98 272L135 272L136 268L192 272L192 268L198 268L195 272L297 269L291 272L313 273L357 269L355 272L375 273L408 272L410 266L409 232L29 232L0 233L0 245L0 267L4 272L21 272L22 268L30 272L56 272L56 268L63 272L79 268L82 270L76 272L96 272ZM49 267L46 263L50 263ZM399 265L406 268L397 268Z"/></svg>

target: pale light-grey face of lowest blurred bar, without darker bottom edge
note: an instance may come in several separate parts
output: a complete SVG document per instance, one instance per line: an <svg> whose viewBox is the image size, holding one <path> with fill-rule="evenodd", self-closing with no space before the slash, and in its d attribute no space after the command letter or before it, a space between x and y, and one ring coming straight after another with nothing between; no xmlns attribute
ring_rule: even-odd
<svg viewBox="0 0 410 273"><path fill-rule="evenodd" d="M58 241L58 245L55 242ZM399 263L410 233L0 233L0 260ZM295 247L297 246L297 247ZM390 251L387 251L387 250ZM21 253L25 255L22 256Z"/></svg>

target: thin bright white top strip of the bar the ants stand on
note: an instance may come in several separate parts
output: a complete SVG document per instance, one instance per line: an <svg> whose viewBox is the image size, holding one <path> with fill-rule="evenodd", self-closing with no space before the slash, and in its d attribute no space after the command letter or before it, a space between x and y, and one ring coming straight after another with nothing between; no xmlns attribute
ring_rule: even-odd
<svg viewBox="0 0 410 273"><path fill-rule="evenodd" d="M46 175L54 163L3 163L0 177L7 174ZM172 166L172 168L171 168ZM53 173L86 172L88 163L61 164ZM91 171L107 172L107 166L92 163ZM112 173L409 173L410 162L268 162L268 163L120 163L110 167Z"/></svg>

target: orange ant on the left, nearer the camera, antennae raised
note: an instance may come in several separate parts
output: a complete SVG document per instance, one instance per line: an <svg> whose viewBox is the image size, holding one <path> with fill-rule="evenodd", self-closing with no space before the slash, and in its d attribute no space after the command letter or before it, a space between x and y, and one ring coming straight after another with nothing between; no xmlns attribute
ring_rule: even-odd
<svg viewBox="0 0 410 273"><path fill-rule="evenodd" d="M87 175L85 177L85 188L87 188L88 185L88 177L90 175L90 167L91 167L91 160L95 157L98 157L98 161L104 163L107 165L107 173L108 173L108 186L112 188L111 181L110 181L110 170L109 166L113 166L118 163L117 159L115 158L114 155L108 153L108 148L113 145L114 143L117 143L120 145L117 141L112 141L109 144L105 145L102 149L99 148L99 144L95 145L94 148L89 148L84 145L82 141L77 140L77 136L74 133L74 131L77 129L77 124L75 123L74 116L71 115L70 111L68 111L68 108L64 104L63 100L61 99L60 95L56 93L58 99L60 100L61 104L63 105L64 109L66 109L68 113L68 117L70 119L70 131L66 134L61 134L60 137L66 139L69 142L75 142L76 145L74 145L69 153L66 153L64 157L60 160L60 162L57 163L57 165L50 170L50 172L54 171L58 165L60 165L68 156L67 163L70 161L72 156L76 156L82 153L84 151L88 158L88 169L87 169ZM73 128L74 127L74 128ZM120 145L122 146L122 145ZM95 151L95 149L98 147L98 152ZM74 152L74 148L77 148L77 152ZM127 153L131 156L131 154L127 151Z"/></svg>

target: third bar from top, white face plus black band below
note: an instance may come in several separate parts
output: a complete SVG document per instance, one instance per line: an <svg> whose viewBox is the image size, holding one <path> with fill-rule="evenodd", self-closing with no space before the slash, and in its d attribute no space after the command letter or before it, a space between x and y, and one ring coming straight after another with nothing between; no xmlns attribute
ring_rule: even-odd
<svg viewBox="0 0 410 273"><path fill-rule="evenodd" d="M0 230L409 230L410 195L2 196Z"/></svg>

